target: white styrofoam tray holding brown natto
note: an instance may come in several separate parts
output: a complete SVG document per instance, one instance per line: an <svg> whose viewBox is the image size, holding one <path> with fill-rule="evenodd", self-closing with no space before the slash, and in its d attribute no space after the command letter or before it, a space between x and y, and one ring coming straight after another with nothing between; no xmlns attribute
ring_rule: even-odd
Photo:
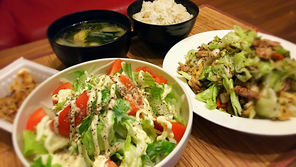
<svg viewBox="0 0 296 167"><path fill-rule="evenodd" d="M22 70L27 70L36 83L41 83L59 72L58 70L26 60L23 57L19 58L0 70L0 97L11 94L9 87L15 81L16 74ZM12 133L13 124L0 118L0 128Z"/></svg>

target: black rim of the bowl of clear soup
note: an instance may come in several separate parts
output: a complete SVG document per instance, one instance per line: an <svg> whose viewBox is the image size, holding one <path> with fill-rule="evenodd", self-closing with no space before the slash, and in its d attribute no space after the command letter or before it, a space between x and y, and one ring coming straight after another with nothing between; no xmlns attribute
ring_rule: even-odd
<svg viewBox="0 0 296 167"><path fill-rule="evenodd" d="M113 40L113 41L110 41L110 42L108 42L108 43L101 44L101 45L95 45L95 46L78 47L78 46L61 45L61 44L56 43L56 42L54 41L54 38L51 39L51 38L49 37L49 33L48 33L49 28L51 28L51 27L53 26L53 24L55 24L55 23L56 23L57 21L59 21L60 19L64 19L65 17L68 17L68 16L70 16L70 15L74 15L74 14L78 14L78 13L84 13L84 12L89 12L89 11L109 11L109 12L113 12L113 13L120 14L120 15L124 16L124 17L129 21L129 27L128 27L128 28L126 27L126 28L127 28L126 32L125 32L122 36L120 36L119 38L117 38L117 39L115 39L115 40ZM88 21L92 21L92 20L88 20ZM85 21L85 22L88 22L88 21ZM105 21L108 21L108 20L105 20ZM109 21L110 21L110 20L109 20ZM115 22L115 21L113 21L113 22ZM81 23L81 22L79 22L79 23ZM79 23L76 23L76 24L79 24ZM115 22L115 23L117 23L117 22ZM75 25L75 24L72 24L72 25L69 25L69 26L73 26L73 25ZM69 27L69 26L68 26L68 27ZM125 27L125 26L124 26L124 27ZM67 27L65 27L65 28L67 28ZM125 36L127 36L127 33L131 32L131 30L132 30L132 23L131 23L130 19L129 19L126 15L124 15L124 14L122 14L122 13L120 13L120 12L117 12L117 11L111 11L111 10L105 10L105 9L94 9L94 10L84 10L84 11L73 12L73 13L70 13L70 14L68 14L68 15L64 15L64 16L58 18L58 19L55 19L55 21L53 21L53 22L48 26L48 28L47 28L47 30L46 30L46 36L47 36L48 41L49 41L52 45L57 45L57 46L65 47L65 48L75 48L75 49L84 49L84 48L85 48L85 49L86 49L86 48L100 47L100 46L108 45L108 44L110 44L110 43L113 43L113 42L119 41L120 39L122 39L122 38L124 38ZM61 30L60 30L60 31L61 31ZM60 31L59 31L59 32L60 32ZM57 33L56 33L56 34L57 34ZM55 34L55 35L56 35L56 34Z"/></svg>

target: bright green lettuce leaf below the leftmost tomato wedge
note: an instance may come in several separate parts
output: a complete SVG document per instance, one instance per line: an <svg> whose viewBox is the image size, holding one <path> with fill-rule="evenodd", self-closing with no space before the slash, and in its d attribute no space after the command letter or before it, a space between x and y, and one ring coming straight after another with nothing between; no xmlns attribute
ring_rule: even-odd
<svg viewBox="0 0 296 167"><path fill-rule="evenodd" d="M29 130L23 131L24 139L24 156L30 156L34 154L47 154L47 150L44 147L44 141L36 141L36 135Z"/></svg>

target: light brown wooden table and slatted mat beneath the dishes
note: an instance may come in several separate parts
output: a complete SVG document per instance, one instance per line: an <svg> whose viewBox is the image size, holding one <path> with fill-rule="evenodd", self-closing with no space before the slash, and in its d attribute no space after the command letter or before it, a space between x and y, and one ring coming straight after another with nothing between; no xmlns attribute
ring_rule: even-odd
<svg viewBox="0 0 296 167"><path fill-rule="evenodd" d="M200 32L253 27L211 6L199 6L195 27L190 35ZM260 30L264 32L263 30ZM144 60L162 66L167 50L153 50L133 38L127 58ZM183 56L183 55L180 55ZM0 68L24 57L45 66L63 70L47 39L0 51ZM16 157L11 135L0 130L0 167L21 166ZM192 132L187 148L176 166L296 166L295 136L265 137L233 131L194 114Z"/></svg>

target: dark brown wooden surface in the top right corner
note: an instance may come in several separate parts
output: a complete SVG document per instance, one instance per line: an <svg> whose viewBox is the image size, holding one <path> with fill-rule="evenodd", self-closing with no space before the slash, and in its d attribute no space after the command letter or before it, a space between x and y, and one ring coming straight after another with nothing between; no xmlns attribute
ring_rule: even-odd
<svg viewBox="0 0 296 167"><path fill-rule="evenodd" d="M296 43L296 0L191 0L209 4L236 18Z"/></svg>

